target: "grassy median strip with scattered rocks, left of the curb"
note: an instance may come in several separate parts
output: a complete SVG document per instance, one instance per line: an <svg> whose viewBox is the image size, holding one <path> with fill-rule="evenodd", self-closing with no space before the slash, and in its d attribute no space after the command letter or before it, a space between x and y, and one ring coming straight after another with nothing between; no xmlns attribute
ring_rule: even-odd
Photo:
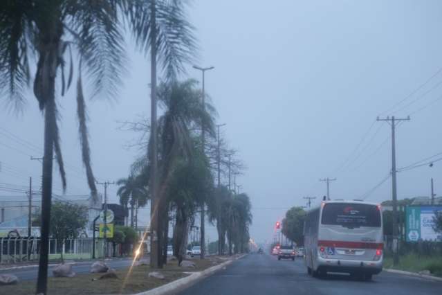
<svg viewBox="0 0 442 295"><path fill-rule="evenodd" d="M199 260L192 259L196 267L194 269L183 269L178 267L175 261L167 262L163 269L150 269L148 265L133 267L130 276L129 269L116 271L118 279L93 280L100 278L102 274L78 274L73 278L48 278L48 295L77 295L77 294L133 294L153 289L160 285L172 282L178 278L188 276L188 271L201 271L221 260ZM73 269L75 271L75 267ZM148 278L149 271L160 271L165 280ZM18 285L1 286L1 294L28 295L35 293L35 281L23 281Z"/></svg>

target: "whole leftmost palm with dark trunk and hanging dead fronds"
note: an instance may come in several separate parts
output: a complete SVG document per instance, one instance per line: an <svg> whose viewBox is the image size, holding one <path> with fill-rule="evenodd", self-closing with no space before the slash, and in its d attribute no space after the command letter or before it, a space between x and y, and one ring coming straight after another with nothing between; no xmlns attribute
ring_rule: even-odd
<svg viewBox="0 0 442 295"><path fill-rule="evenodd" d="M33 80L33 91L44 112L44 160L42 179L42 246L40 249L37 294L46 294L48 237L52 196L53 154L57 159L63 187L66 177L57 125L56 78L64 95L73 80L73 51L77 64L77 116L82 161L91 195L96 196L91 169L82 71L93 85L93 93L115 96L120 73L124 71L124 38L121 12L131 16L138 1L116 0L3 0L0 1L0 90L15 105L24 101L24 90ZM141 1L140 1L141 2ZM132 21L133 23L133 21ZM30 61L36 61L35 77ZM66 77L66 70L67 77Z"/></svg>

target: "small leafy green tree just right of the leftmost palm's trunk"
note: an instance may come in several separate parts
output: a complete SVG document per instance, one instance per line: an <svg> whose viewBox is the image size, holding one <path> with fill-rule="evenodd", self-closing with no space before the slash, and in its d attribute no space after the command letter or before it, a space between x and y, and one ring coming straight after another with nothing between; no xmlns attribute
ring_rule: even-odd
<svg viewBox="0 0 442 295"><path fill-rule="evenodd" d="M50 214L50 235L60 245L60 257L63 260L63 245L66 239L75 239L87 223L87 207L56 201L52 204ZM36 215L36 221L42 220L40 214Z"/></svg>

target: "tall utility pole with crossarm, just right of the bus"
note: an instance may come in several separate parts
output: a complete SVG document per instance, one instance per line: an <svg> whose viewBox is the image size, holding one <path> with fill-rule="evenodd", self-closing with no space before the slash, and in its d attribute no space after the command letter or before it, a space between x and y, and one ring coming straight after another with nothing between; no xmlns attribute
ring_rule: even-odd
<svg viewBox="0 0 442 295"><path fill-rule="evenodd" d="M407 118L391 118L388 116L387 118L380 119L376 118L378 121L385 121L392 126L392 199L393 199L393 265L398 265L399 263L399 241L398 241L398 196L396 190L396 138L395 138L395 128L396 123L399 121L409 120L409 116Z"/></svg>

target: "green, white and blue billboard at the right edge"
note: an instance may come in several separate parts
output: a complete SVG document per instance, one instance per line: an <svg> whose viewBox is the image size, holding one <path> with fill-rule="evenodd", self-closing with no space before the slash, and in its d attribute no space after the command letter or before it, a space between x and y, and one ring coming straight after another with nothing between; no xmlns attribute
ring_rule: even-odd
<svg viewBox="0 0 442 295"><path fill-rule="evenodd" d="M433 217L436 211L442 212L442 206L407 206L405 211L407 242L418 240L442 242L442 233L436 233L433 229Z"/></svg>

